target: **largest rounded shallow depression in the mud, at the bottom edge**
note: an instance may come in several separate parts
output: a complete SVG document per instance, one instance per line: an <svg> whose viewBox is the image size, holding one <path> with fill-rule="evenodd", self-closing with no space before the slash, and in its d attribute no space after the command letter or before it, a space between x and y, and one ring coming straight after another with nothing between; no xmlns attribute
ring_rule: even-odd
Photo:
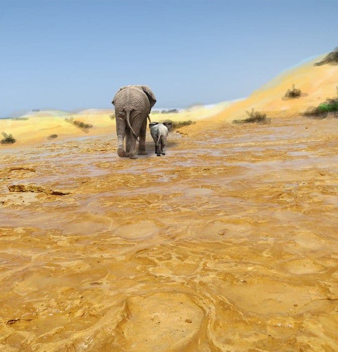
<svg viewBox="0 0 338 352"><path fill-rule="evenodd" d="M185 295L160 292L129 298L126 318L119 324L119 340L127 351L185 350L198 333L204 312Z"/></svg>

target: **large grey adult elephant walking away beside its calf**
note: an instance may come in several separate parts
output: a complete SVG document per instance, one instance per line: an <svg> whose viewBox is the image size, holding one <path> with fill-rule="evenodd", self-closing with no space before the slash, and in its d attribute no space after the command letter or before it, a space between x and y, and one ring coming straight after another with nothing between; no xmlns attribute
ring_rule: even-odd
<svg viewBox="0 0 338 352"><path fill-rule="evenodd" d="M112 104L115 106L118 156L136 159L137 138L139 138L137 154L147 154L145 150L147 118L150 122L149 113L155 102L155 95L148 86L125 86L116 93ZM126 150L124 150L124 137L126 137Z"/></svg>

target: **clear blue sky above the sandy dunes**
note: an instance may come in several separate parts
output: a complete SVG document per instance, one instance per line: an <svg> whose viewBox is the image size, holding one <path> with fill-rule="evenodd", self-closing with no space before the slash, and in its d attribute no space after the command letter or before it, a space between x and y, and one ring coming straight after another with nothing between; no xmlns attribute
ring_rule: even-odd
<svg viewBox="0 0 338 352"><path fill-rule="evenodd" d="M147 84L155 107L249 95L338 45L337 1L0 0L0 116L111 108Z"/></svg>

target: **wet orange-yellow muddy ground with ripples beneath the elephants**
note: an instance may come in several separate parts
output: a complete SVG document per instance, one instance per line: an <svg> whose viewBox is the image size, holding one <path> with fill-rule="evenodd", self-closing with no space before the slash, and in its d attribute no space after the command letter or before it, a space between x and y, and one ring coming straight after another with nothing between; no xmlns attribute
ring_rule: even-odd
<svg viewBox="0 0 338 352"><path fill-rule="evenodd" d="M338 350L337 120L180 132L2 152L1 350Z"/></svg>

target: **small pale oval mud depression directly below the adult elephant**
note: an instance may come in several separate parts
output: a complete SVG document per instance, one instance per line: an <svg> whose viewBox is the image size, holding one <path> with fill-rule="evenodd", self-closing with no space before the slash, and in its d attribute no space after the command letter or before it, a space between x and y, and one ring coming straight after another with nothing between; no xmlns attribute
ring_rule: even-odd
<svg viewBox="0 0 338 352"><path fill-rule="evenodd" d="M156 236L158 231L159 228L153 221L144 220L120 226L117 234L125 240L143 240Z"/></svg>

